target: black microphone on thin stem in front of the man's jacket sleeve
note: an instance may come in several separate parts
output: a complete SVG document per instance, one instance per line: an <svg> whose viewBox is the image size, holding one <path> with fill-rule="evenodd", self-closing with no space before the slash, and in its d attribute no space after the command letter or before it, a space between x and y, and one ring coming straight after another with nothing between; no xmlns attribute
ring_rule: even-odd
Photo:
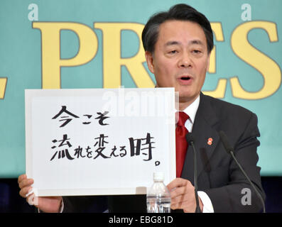
<svg viewBox="0 0 282 227"><path fill-rule="evenodd" d="M254 191L256 192L256 195L259 197L259 199L261 200L261 204L264 206L264 213L266 213L266 207L265 207L265 204L264 204L264 199L262 199L261 194L256 189L256 187L254 186L253 182L251 182L251 179L249 179L248 175L246 175L246 172L243 170L243 168L240 165L240 163L238 162L237 158L234 156L234 148L232 147L232 145L229 144L229 141L227 139L227 135L224 133L224 131L219 131L219 137L222 140L223 146L224 146L225 150L227 151L227 153L229 153L229 155L232 156L234 161L239 166L239 169L243 172L243 174L246 177L246 179L248 179L249 183L251 184L251 187L254 188Z"/></svg>

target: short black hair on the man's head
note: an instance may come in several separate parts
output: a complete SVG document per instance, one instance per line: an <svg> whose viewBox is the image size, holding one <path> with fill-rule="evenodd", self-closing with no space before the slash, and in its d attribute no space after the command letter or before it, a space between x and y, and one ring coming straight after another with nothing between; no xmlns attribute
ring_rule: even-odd
<svg viewBox="0 0 282 227"><path fill-rule="evenodd" d="M212 28L210 21L204 14L186 4L177 4L168 11L159 12L151 16L142 32L142 42L144 50L153 53L158 40L158 31L161 23L166 21L192 21L199 24L207 39L207 51L210 53L214 46Z"/></svg>

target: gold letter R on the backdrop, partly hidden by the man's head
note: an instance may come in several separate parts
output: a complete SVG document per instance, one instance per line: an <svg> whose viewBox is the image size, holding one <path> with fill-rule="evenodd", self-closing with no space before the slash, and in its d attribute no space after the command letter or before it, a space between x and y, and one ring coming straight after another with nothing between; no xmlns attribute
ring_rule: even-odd
<svg viewBox="0 0 282 227"><path fill-rule="evenodd" d="M103 32L104 88L121 86L121 65L125 65L137 87L154 87L151 77L143 67L145 52L141 42L141 23L94 23ZM134 31L139 36L139 51L134 57L121 58L121 31Z"/></svg>

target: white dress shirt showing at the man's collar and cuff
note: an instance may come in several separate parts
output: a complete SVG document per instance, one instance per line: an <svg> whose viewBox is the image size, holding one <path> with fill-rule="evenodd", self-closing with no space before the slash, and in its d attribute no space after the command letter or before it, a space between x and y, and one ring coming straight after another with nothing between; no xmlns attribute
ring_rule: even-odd
<svg viewBox="0 0 282 227"><path fill-rule="evenodd" d="M188 106L185 110L183 110L183 112L185 112L185 114L189 116L188 120L185 122L185 128L187 128L187 130L190 133L192 133L192 127L195 121L195 116L199 104L200 104L200 95L197 96L197 99L195 99L195 101L193 101L192 104L190 104L190 106ZM215 211L212 206L212 201L210 201L210 197L205 192L202 191L198 191L197 194L202 200L202 205L203 205L202 213L214 213Z"/></svg>

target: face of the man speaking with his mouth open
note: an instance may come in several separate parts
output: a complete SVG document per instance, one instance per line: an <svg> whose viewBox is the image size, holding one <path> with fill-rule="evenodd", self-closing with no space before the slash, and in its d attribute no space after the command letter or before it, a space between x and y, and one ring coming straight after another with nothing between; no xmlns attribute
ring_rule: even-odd
<svg viewBox="0 0 282 227"><path fill-rule="evenodd" d="M175 87L180 102L191 104L205 82L210 55L205 33L191 21L166 21L159 28L153 55L146 52L148 69L157 87Z"/></svg>

